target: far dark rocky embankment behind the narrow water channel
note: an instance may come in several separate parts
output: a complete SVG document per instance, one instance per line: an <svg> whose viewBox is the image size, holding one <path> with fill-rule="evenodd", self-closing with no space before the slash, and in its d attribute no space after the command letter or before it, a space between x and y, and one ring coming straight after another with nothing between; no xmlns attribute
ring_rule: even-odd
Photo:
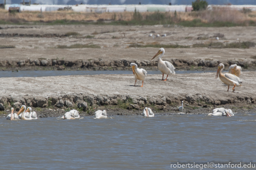
<svg viewBox="0 0 256 170"><path fill-rule="evenodd" d="M238 64L241 67L255 68L256 60L246 59L246 60L215 60L215 59L194 59L194 60L182 60L182 59L167 59L176 67L176 69L182 68L196 68L204 67L212 68L217 67L219 63L224 65ZM154 67L157 66L157 60L129 60L129 59L120 59L120 60L75 60L75 61L66 61L66 60L56 60L56 59L26 59L26 60L3 60L0 61L0 68L2 70L38 70L38 69L89 69L89 70L113 70L113 69L130 69L130 63L134 62L139 67Z"/></svg>

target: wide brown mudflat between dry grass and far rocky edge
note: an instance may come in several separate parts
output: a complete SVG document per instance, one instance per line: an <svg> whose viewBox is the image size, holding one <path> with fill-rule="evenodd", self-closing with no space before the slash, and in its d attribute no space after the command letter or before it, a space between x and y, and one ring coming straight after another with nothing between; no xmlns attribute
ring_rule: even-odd
<svg viewBox="0 0 256 170"><path fill-rule="evenodd" d="M215 42L212 36L216 33L224 34L219 42L230 43L237 41L256 41L255 27L223 27L223 28L187 28L187 27L164 27L155 26L109 26L109 25L32 25L19 28L15 25L0 25L1 34L66 34L77 32L81 36L94 36L94 38L30 38L30 37L1 37L1 45L14 45L16 48L0 49L1 60L24 60L30 59L139 59L150 60L158 48L129 48L131 43L160 43L192 45L195 43ZM148 35L166 34L166 37L152 38ZM93 33L97 33L94 35ZM205 40L197 39L199 36L207 37ZM239 38L239 40L237 40ZM55 49L57 45L93 43L101 48L73 48ZM234 59L244 60L255 56L255 48L250 49L210 49L210 48L177 48L165 49L163 58L177 59Z"/></svg>

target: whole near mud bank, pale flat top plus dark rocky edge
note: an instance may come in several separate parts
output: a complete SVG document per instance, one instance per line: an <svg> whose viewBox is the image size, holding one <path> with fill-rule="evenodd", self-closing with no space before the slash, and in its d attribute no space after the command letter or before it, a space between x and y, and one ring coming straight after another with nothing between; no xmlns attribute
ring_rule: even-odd
<svg viewBox="0 0 256 170"><path fill-rule="evenodd" d="M161 75L147 75L144 87L140 81L134 86L133 74L0 78L0 108L32 106L43 110L42 117L59 116L72 108L82 115L97 109L108 109L110 115L138 114L144 107L178 113L181 101L186 113L209 113L216 107L255 110L255 72L242 72L243 86L234 93L214 77L210 72L176 74L164 82Z"/></svg>

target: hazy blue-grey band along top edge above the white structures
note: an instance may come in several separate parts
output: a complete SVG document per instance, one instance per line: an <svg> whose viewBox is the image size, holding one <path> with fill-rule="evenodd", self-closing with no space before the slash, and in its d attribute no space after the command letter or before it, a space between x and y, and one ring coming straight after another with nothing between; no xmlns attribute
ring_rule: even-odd
<svg viewBox="0 0 256 170"><path fill-rule="evenodd" d="M2 2L1 2L2 1ZM88 5L128 5L128 4L158 4L158 5L191 5L195 0L31 0L31 4L41 5L76 5L76 4L88 4ZM6 0L6 4L20 4L23 0ZM25 0L29 2L29 0ZM256 0L207 0L208 4L212 5L256 5ZM0 3L4 3L4 0L0 0Z"/></svg>

